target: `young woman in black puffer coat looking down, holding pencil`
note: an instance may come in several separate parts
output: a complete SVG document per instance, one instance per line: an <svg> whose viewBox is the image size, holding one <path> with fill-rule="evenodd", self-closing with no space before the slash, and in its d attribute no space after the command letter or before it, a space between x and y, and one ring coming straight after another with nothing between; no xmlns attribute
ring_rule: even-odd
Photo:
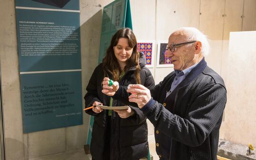
<svg viewBox="0 0 256 160"><path fill-rule="evenodd" d="M149 89L155 83L144 54L137 51L132 30L122 28L111 39L106 56L87 86L86 107L92 105L122 106L118 100L103 94L102 81L108 77L127 89L129 84L142 84ZM139 160L148 155L146 116L138 107L126 110L102 110L94 107L86 113L94 115L90 152L93 160Z"/></svg>

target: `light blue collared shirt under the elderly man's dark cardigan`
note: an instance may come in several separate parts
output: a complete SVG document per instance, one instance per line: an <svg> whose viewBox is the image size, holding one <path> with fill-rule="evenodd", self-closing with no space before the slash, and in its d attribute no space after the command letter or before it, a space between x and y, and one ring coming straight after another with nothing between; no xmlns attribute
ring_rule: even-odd
<svg viewBox="0 0 256 160"><path fill-rule="evenodd" d="M197 66L198 63L196 63L195 65L193 66L190 66L186 69L184 69L183 71L179 71L179 70L174 70L175 71L175 78L172 82L172 85L171 85L171 89L166 93L166 97L171 94L171 92L177 87L178 84L180 84L180 82L182 82L186 76L191 72L191 70L193 68L195 68Z"/></svg>

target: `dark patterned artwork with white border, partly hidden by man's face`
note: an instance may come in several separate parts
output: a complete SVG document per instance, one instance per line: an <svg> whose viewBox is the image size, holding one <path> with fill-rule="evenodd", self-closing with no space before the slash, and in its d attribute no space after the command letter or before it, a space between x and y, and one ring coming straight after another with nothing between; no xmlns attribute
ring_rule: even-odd
<svg viewBox="0 0 256 160"><path fill-rule="evenodd" d="M168 41L158 41L157 67L171 67L171 58L166 56L166 46Z"/></svg>

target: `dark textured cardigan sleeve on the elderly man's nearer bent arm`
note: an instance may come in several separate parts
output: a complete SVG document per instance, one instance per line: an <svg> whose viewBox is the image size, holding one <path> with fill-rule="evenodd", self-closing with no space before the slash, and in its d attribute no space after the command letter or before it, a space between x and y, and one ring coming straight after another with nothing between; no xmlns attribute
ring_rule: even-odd
<svg viewBox="0 0 256 160"><path fill-rule="evenodd" d="M159 131L176 141L196 147L212 132L223 114L225 104L226 89L216 84L206 87L197 96L184 118L172 114L153 98L141 110Z"/></svg>

